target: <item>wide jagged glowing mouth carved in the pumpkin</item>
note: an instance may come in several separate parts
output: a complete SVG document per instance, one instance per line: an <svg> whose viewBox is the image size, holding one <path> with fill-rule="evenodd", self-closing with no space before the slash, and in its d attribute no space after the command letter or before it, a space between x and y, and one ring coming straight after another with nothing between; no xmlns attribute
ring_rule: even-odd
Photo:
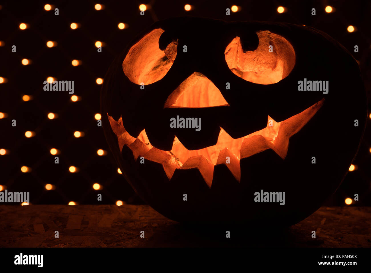
<svg viewBox="0 0 371 273"><path fill-rule="evenodd" d="M138 157L144 157L146 160L162 164L169 180L177 168L198 168L206 184L211 187L214 165L226 164L236 180L240 181L240 159L242 158L250 157L266 149L272 149L282 159L285 159L289 138L311 120L324 101L325 99L322 99L303 112L280 122L276 122L268 116L265 128L242 138L234 139L221 128L217 143L199 150L188 150L175 136L171 151L162 151L151 145L145 129L137 138L132 137L125 130L122 117L115 121L108 113L107 116L112 130L118 138L120 151L124 145L128 145L133 152L134 160L137 160Z"/></svg>

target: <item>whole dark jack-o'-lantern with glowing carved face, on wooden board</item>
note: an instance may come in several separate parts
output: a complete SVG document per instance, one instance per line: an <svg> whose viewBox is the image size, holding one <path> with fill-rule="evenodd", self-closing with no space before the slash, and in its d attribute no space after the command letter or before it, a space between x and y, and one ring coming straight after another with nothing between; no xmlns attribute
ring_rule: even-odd
<svg viewBox="0 0 371 273"><path fill-rule="evenodd" d="M357 63L325 33L194 17L124 50L101 108L119 168L157 211L275 225L336 190L367 115Z"/></svg>

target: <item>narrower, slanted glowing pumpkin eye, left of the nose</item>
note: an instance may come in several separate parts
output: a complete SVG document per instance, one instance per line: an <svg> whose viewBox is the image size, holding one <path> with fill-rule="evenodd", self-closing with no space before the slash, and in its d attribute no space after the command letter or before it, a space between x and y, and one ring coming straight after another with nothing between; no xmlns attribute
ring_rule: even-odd
<svg viewBox="0 0 371 273"><path fill-rule="evenodd" d="M133 45L122 69L133 83L149 85L164 78L177 56L177 41L170 42L166 49L161 50L159 39L163 29L154 29Z"/></svg>

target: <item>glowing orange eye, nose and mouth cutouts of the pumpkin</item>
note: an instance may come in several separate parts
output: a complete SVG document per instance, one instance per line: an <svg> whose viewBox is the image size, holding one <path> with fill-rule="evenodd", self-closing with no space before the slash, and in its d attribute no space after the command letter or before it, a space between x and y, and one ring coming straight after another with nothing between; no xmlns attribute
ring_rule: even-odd
<svg viewBox="0 0 371 273"><path fill-rule="evenodd" d="M162 51L158 39L164 32L154 29L129 49L123 62L125 75L134 83L148 85L163 78L176 57L177 42L173 41ZM225 58L234 74L247 81L259 84L272 84L285 78L295 65L295 52L283 37L269 31L257 32L259 46L255 51L243 52L240 38L236 37L227 46ZM269 52L273 45L273 52ZM284 121L276 122L267 116L267 126L242 138L233 139L223 128L215 145L198 150L188 150L174 137L171 151L162 151L153 147L145 129L137 136L128 134L122 124L122 118L115 121L108 115L112 130L118 137L120 151L124 145L132 150L134 159L143 156L147 160L162 164L169 178L175 169L198 168L205 182L211 186L213 168L216 164L226 164L237 181L240 181L239 160L251 155L273 149L282 159L288 151L289 138L296 134L318 111L324 99L303 112ZM174 107L213 107L229 105L219 89L206 76L194 72L185 79L168 97L164 108Z"/></svg>

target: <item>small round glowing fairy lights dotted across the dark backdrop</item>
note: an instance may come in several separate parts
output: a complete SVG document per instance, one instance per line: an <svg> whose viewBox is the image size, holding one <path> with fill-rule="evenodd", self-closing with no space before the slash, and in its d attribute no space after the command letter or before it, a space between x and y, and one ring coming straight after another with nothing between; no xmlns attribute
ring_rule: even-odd
<svg viewBox="0 0 371 273"><path fill-rule="evenodd" d="M103 4L95 4L94 8L95 8L96 11L100 11L100 10L104 10L105 9L105 6ZM45 9L45 11L53 11L55 9L55 7L53 5L51 5L51 4L45 4L44 9ZM139 5L139 10L140 11L145 11L145 10L149 10L149 9L151 9L151 5L150 4L140 4ZM195 6L194 5L191 5L191 4L185 4L184 5L184 10L185 11L190 11L190 10L194 10L194 9L195 9ZM233 5L233 6L230 7L230 10L233 13L236 13L236 12L241 11L242 10L242 7L241 6ZM326 13L332 13L332 12L335 12L335 10L336 9L334 7L332 7L332 6L326 6L325 7L325 12ZM286 7L283 7L283 6L279 6L279 7L277 7L277 12L278 13L285 13L285 12L288 12L288 9ZM25 30L25 29L27 29L29 27L30 27L30 25L28 23L20 23L19 24L19 29L21 31L22 30ZM79 23L76 23L76 22L70 23L70 28L72 30L76 30L79 27L81 27L81 25ZM122 30L122 29L128 28L129 25L127 23L119 22L117 24L117 27L118 27L118 29L121 29ZM357 31L357 28L355 26L349 25L347 27L347 31L348 32L355 32L355 31ZM3 41L0 41L0 46L4 46L4 45L5 45L5 43ZM105 46L105 43L104 42L101 42L101 41L95 41L94 45L97 48L99 48L99 47ZM46 42L46 46L48 48L56 47L56 46L58 46L58 42L56 42L56 41L47 41ZM30 59L22 59L21 63L22 63L22 65L27 66L27 65L32 64L32 60L30 60ZM82 65L82 61L81 60L74 59L74 60L71 61L71 65L72 66ZM49 76L49 77L47 77L46 80L47 80L48 83L53 83L57 79L56 79L56 77ZM0 84L7 83L7 82L8 82L8 79L7 78L0 76ZM103 83L103 79L102 78L96 78L95 82L96 82L96 84L101 85ZM31 95L24 95L22 97L22 100L24 102L31 101L32 99L33 99L33 96L31 96ZM80 96L76 96L76 95L72 95L70 97L70 100L72 102L77 102L77 101L81 100L81 97ZM9 115L7 113L0 112L0 119L7 118L8 116ZM50 112L49 114L47 114L47 118L50 119L50 120L56 119L56 118L58 118L58 114L57 113ZM94 118L98 121L98 120L100 120L102 118L102 116L101 116L101 114L96 113L94 115ZM370 114L370 119L371 119L371 114ZM75 138L81 138L81 137L84 137L84 132L82 132L82 131L75 131L73 133L73 135L74 135ZM32 138L32 137L35 137L36 136L36 133L33 132L33 131L26 131L24 133L24 136L26 138ZM9 154L9 152L10 151L8 149L4 149L4 148L1 148L0 149L0 155L1 156ZM52 155L58 155L60 153L61 153L61 151L59 149L56 149L56 148L51 148L50 149L50 154L52 154ZM371 148L370 148L370 153L371 153ZM96 151L96 154L98 156L104 156L104 155L107 155L108 153L107 153L107 151L105 151L103 149L98 149ZM358 169L358 166L357 165L354 165L354 164L350 165L350 167L349 167L349 171L356 171L357 169ZM76 167L76 166L70 166L68 170L71 173L75 173L75 172L78 172L79 171L79 168ZM20 171L21 172L31 172L32 169L30 167L27 167L27 166L21 166L20 167ZM122 174L122 172L121 172L121 170L119 168L117 169L117 172L118 172L118 174ZM93 187L94 190L101 190L102 189L102 185L100 185L98 183L94 183L92 185L92 187ZM46 184L45 185L45 189L47 191L52 191L52 190L55 190L56 189L56 186L55 185L52 185L52 184ZM6 186L5 185L0 185L0 191L3 191L3 190L6 190ZM29 204L30 203L23 202L21 205L29 205ZM116 205L118 205L118 206L123 205L123 204L124 204L124 202L121 201L121 200L117 200L116 201ZM347 204L347 205L352 204L352 198L346 198L345 199L345 204ZM70 201L68 203L68 205L76 205L76 202L75 201Z"/></svg>

